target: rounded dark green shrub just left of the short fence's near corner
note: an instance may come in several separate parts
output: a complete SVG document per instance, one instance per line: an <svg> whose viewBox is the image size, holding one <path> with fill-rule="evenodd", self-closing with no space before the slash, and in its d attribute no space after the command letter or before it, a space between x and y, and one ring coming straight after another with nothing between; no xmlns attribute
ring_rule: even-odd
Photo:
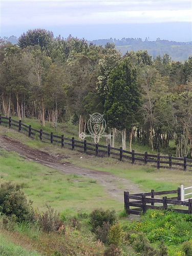
<svg viewBox="0 0 192 256"><path fill-rule="evenodd" d="M110 226L113 225L117 220L115 211L95 209L90 214L90 225L92 232L96 232L98 227L102 227L103 222L109 222Z"/></svg>

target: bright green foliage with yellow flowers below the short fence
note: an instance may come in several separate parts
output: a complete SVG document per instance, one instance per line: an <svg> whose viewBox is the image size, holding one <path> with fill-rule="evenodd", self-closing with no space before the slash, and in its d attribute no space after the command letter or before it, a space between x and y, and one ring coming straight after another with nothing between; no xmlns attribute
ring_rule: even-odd
<svg viewBox="0 0 192 256"><path fill-rule="evenodd" d="M192 238L190 216L170 211L147 210L142 221L133 222L128 229L146 234L150 242L163 240L166 245L178 245Z"/></svg>

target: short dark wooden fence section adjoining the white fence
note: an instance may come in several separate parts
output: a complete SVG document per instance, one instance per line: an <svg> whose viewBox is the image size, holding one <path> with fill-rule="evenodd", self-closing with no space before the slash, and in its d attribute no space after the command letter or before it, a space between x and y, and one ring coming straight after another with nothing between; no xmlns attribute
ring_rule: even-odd
<svg viewBox="0 0 192 256"><path fill-rule="evenodd" d="M164 196L162 199L155 198L160 195L177 194L176 197L167 198ZM156 205L155 205L156 204ZM176 205L185 206L185 209L173 208ZM147 209L161 209L161 210L174 210L183 214L192 214L192 199L188 201L181 201L181 188L167 191L157 191L153 189L150 193L132 194L128 191L124 191L124 208L127 214L140 215L141 212L145 212Z"/></svg>

